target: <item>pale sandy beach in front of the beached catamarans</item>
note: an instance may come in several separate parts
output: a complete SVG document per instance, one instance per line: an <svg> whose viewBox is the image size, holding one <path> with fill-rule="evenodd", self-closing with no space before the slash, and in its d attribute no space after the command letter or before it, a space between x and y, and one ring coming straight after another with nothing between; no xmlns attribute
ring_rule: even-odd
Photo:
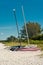
<svg viewBox="0 0 43 65"><path fill-rule="evenodd" d="M0 43L0 65L43 65L41 51L10 51Z"/></svg>

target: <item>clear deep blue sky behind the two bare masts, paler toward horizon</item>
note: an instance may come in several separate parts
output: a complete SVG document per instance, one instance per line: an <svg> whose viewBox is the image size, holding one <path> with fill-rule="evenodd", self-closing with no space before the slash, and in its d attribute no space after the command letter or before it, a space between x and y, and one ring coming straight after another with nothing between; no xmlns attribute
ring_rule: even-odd
<svg viewBox="0 0 43 65"><path fill-rule="evenodd" d="M22 5L26 21L38 22L43 28L43 0L0 0L0 40L6 39L11 35L17 37L13 8L16 9L20 30L24 24Z"/></svg>

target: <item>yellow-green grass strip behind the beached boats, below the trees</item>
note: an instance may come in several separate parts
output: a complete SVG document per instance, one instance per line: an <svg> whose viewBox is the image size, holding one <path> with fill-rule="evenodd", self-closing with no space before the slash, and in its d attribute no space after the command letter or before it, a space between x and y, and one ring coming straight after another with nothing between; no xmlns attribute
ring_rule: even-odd
<svg viewBox="0 0 43 65"><path fill-rule="evenodd" d="M20 43L18 42L4 42L6 46L18 46ZM37 45L38 48L43 50L43 40L30 40L30 44ZM26 46L26 42L21 42L21 46Z"/></svg>

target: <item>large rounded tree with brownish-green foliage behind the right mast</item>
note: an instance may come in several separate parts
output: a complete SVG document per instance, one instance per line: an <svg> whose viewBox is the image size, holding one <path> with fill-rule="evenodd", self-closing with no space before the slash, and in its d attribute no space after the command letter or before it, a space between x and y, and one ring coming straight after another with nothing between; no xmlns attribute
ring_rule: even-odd
<svg viewBox="0 0 43 65"><path fill-rule="evenodd" d="M27 27L27 32L28 32L28 36L29 38L31 38L34 35L37 35L41 32L41 26L38 23L34 23L34 22L28 22L26 23L26 27ZM26 29L25 26L23 26L22 30L21 30L21 38L26 38Z"/></svg>

